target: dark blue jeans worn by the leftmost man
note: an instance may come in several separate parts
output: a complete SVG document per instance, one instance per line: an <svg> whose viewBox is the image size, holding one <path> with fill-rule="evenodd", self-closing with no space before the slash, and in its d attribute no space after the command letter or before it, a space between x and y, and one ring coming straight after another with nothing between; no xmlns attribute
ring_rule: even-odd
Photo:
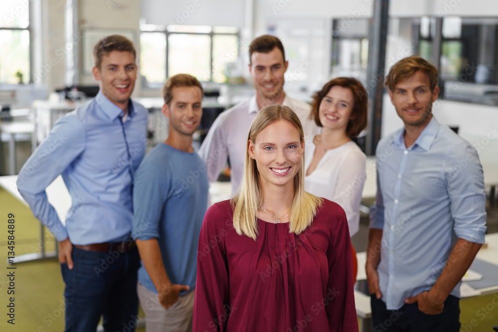
<svg viewBox="0 0 498 332"><path fill-rule="evenodd" d="M100 317L106 332L134 332L138 297L138 249L120 253L73 247L74 267L61 264L66 284L66 332L94 332Z"/></svg>

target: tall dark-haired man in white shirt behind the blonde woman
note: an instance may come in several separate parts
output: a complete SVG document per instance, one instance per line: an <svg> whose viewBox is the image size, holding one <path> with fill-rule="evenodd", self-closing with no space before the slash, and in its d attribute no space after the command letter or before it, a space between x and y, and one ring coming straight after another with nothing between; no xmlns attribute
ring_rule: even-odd
<svg viewBox="0 0 498 332"><path fill-rule="evenodd" d="M308 118L311 107L283 91L287 66L282 42L277 37L263 35L250 43L249 71L255 95L222 112L209 129L199 150L206 163L209 182L218 179L228 157L232 168L232 193L236 192L243 176L249 127L256 113L268 105L285 105L295 111L305 136L319 132L316 123Z"/></svg>

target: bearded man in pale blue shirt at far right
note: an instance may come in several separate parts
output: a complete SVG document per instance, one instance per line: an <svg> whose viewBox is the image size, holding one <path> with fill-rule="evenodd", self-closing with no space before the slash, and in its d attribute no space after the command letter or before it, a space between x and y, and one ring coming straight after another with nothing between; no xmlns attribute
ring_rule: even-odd
<svg viewBox="0 0 498 332"><path fill-rule="evenodd" d="M461 279L486 232L476 149L432 115L437 69L400 60L385 85L404 127L376 149L366 264L374 331L460 329Z"/></svg>

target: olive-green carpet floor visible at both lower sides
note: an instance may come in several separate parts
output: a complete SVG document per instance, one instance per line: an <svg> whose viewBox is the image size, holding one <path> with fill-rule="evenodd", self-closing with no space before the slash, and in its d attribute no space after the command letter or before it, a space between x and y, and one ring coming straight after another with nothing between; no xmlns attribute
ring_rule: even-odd
<svg viewBox="0 0 498 332"><path fill-rule="evenodd" d="M7 215L15 218L15 256L38 252L39 222L31 211L0 188L0 331L60 332L64 330L64 283L57 260L46 260L10 265L7 263ZM45 232L48 251L54 250L54 238ZM16 267L15 270L7 267ZM15 271L15 294L8 295L7 273ZM14 297L14 323L9 319L7 305ZM492 332L498 325L498 293L460 302L462 332ZM144 330L137 330L138 332Z"/></svg>

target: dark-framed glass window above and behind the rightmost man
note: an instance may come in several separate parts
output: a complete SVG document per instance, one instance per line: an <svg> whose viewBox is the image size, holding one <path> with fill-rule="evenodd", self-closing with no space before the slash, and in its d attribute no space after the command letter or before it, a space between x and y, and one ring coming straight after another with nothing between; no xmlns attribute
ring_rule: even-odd
<svg viewBox="0 0 498 332"><path fill-rule="evenodd" d="M431 60L435 19L420 20L418 54ZM439 80L446 99L498 106L498 18L444 17Z"/></svg>

